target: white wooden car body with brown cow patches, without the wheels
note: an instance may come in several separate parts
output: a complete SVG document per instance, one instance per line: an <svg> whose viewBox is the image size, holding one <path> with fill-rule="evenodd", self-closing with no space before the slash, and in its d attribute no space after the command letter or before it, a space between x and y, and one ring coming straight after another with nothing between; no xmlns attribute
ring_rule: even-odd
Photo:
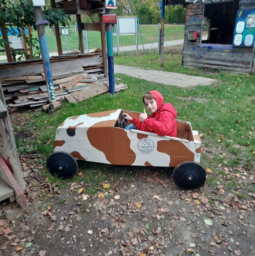
<svg viewBox="0 0 255 256"><path fill-rule="evenodd" d="M200 162L201 140L191 123L177 120L177 137L119 127L122 112L116 109L68 117L58 126L54 151L76 159L118 164L177 166L184 161Z"/></svg>

